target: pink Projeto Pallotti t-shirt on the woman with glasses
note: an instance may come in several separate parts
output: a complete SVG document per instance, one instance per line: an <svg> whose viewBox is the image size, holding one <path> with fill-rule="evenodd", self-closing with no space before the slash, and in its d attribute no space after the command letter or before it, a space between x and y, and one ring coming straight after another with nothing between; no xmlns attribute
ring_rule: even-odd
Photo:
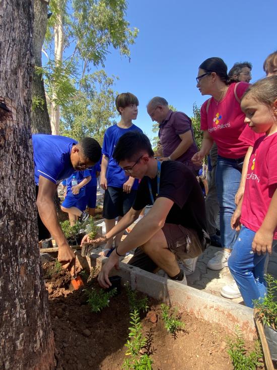
<svg viewBox="0 0 277 370"><path fill-rule="evenodd" d="M206 100L201 107L201 130L207 130L218 146L219 155L237 159L246 154L249 144L239 139L240 134L245 129L245 114L240 108L240 103L235 97L236 93L241 99L247 90L249 83L232 83L219 103L212 97L206 113ZM250 134L250 131L247 131ZM251 133L252 135L252 133Z"/></svg>

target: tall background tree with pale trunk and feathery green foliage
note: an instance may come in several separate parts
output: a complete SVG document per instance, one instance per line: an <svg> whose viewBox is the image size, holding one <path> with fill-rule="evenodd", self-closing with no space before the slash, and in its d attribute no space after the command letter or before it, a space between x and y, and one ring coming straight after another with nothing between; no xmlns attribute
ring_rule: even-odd
<svg viewBox="0 0 277 370"><path fill-rule="evenodd" d="M93 70L98 66L104 68L112 48L130 58L129 45L134 43L138 30L129 27L126 10L126 0L49 3L52 16L44 43L48 62L38 73L42 72L45 79L52 132L53 127L59 132L60 117L62 134L77 139L84 134L96 134L101 141L103 131L112 124L115 111L110 101L114 104L115 77Z"/></svg>

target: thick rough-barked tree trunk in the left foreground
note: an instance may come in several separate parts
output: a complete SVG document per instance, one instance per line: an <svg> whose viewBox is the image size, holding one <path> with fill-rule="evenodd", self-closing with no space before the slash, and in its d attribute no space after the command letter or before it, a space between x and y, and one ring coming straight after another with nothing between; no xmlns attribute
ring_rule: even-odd
<svg viewBox="0 0 277 370"><path fill-rule="evenodd" d="M4 370L55 366L35 207L32 7L31 0L0 3L0 368Z"/></svg>

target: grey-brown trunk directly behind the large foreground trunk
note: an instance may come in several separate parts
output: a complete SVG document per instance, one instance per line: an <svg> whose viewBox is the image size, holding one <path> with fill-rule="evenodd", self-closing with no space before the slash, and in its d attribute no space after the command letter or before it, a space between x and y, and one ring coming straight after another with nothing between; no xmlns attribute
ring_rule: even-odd
<svg viewBox="0 0 277 370"><path fill-rule="evenodd" d="M47 4L41 0L34 0L34 33L33 50L35 65L41 67L41 48L47 27ZM34 71L32 80L31 126L33 133L51 134L51 125L45 98L44 83L41 75Z"/></svg>

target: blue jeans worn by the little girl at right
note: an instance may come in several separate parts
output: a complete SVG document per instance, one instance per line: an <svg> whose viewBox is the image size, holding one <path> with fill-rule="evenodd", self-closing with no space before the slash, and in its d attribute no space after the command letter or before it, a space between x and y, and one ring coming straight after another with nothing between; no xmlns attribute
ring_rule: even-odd
<svg viewBox="0 0 277 370"><path fill-rule="evenodd" d="M267 253L257 255L252 252L251 246L255 232L242 226L238 239L234 245L228 266L235 279L244 303L253 307L253 299L266 294L264 279L264 265Z"/></svg>

